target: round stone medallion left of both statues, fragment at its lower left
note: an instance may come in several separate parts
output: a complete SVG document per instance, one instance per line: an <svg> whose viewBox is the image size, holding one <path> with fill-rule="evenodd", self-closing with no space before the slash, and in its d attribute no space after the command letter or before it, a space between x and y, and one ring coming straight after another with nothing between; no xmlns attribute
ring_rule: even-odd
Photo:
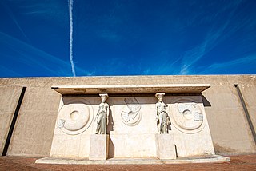
<svg viewBox="0 0 256 171"><path fill-rule="evenodd" d="M89 128L94 113L85 99L67 101L58 112L58 127L67 134L78 134Z"/></svg>

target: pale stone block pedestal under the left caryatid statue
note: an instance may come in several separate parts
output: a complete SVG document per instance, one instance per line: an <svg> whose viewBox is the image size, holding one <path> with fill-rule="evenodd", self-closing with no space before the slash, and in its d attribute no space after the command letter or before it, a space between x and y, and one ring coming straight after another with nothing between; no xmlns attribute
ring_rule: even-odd
<svg viewBox="0 0 256 171"><path fill-rule="evenodd" d="M94 134L90 136L89 160L106 160L109 153L109 135Z"/></svg>

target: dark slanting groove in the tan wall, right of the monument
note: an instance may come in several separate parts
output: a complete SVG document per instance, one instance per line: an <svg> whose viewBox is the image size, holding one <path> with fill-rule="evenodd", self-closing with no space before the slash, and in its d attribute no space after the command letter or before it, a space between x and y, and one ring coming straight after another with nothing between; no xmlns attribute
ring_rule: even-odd
<svg viewBox="0 0 256 171"><path fill-rule="evenodd" d="M244 101L244 99L243 99L243 97L242 97L242 93L241 93L241 91L240 91L240 89L239 89L239 86L238 86L237 84L235 84L234 87L235 87L235 88L237 89L237 91L238 91L238 95L239 95L240 101L241 101L241 103L242 103L242 108L243 108L243 110L244 110L245 113L246 113L246 119L247 119L248 124L249 124L249 126L250 126L250 131L251 131L251 133L252 133L252 136L254 137L254 143L255 143L255 145L256 145L256 133L255 133L255 129L254 129L253 122L252 122L251 119L250 119L250 114L249 114L248 109L247 109L247 107L246 107L246 102Z"/></svg>

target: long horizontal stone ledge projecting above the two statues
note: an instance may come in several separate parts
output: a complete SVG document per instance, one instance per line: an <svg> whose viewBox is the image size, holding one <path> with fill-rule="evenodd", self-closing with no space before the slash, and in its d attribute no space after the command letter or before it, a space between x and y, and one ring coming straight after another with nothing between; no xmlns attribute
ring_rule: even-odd
<svg viewBox="0 0 256 171"><path fill-rule="evenodd" d="M98 93L202 93L210 84L170 85L53 85L62 95L86 95Z"/></svg>

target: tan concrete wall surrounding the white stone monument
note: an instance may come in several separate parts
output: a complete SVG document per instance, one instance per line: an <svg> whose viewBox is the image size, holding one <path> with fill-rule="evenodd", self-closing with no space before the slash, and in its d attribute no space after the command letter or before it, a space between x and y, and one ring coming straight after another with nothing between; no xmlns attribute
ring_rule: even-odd
<svg viewBox="0 0 256 171"><path fill-rule="evenodd" d="M256 75L131 76L82 78L0 78L1 134L6 140L10 120L23 86L26 93L10 141L8 155L49 156L60 95L51 85L211 84L202 93L215 153L255 153L250 126L234 84L238 84L256 128ZM10 99L10 100L2 100ZM3 112L2 112L3 111ZM3 119L2 119L3 118ZM2 150L1 145L1 150Z"/></svg>

